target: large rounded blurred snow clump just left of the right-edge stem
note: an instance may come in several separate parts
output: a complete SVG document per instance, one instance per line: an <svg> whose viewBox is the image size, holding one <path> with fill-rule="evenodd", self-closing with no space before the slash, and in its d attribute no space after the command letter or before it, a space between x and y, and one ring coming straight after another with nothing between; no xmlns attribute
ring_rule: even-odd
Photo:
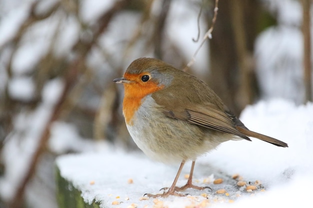
<svg viewBox="0 0 313 208"><path fill-rule="evenodd" d="M302 51L301 31L292 27L270 27L257 37L256 73L264 99L280 97L302 102Z"/></svg>

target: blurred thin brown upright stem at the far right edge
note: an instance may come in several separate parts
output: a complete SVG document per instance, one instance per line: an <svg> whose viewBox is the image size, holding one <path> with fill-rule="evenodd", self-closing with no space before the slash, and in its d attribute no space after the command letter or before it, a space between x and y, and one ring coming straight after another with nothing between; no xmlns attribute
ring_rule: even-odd
<svg viewBox="0 0 313 208"><path fill-rule="evenodd" d="M302 33L303 33L303 78L305 86L305 102L312 101L312 63L311 63L311 32L310 32L310 8L311 0L301 0L303 9L303 22L302 22Z"/></svg>

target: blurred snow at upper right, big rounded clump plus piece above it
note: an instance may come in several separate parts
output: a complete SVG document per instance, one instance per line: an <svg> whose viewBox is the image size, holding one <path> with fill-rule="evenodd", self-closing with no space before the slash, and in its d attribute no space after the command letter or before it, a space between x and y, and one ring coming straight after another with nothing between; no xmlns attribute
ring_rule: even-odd
<svg viewBox="0 0 313 208"><path fill-rule="evenodd" d="M255 40L254 57L262 99L278 97L301 104L304 83L300 1L263 2L277 16L277 25L266 28ZM312 31L311 28L311 34Z"/></svg>

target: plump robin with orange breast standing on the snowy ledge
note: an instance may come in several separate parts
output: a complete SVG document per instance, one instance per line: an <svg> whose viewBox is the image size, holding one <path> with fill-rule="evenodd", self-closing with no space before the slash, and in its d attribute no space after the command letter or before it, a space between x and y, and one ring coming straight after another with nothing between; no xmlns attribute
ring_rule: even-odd
<svg viewBox="0 0 313 208"><path fill-rule="evenodd" d="M278 147L282 141L248 130L205 83L173 66L154 59L138 58L123 77L113 80L124 85L123 115L136 145L151 159L179 163L171 187L148 197L184 196L192 184L195 160L229 140L254 137ZM186 161L192 161L186 185L176 182Z"/></svg>

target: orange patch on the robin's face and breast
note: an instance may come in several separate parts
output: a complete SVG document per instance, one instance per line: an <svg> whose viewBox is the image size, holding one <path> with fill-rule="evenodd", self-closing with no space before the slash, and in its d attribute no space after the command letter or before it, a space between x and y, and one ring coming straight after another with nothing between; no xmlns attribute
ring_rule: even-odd
<svg viewBox="0 0 313 208"><path fill-rule="evenodd" d="M132 118L134 113L141 105L142 99L157 90L162 89L164 86L159 86L157 83L148 80L141 81L143 75L149 75L147 72L140 74L124 74L124 78L133 83L124 83L124 100L123 100L123 115L127 125L132 125Z"/></svg>

